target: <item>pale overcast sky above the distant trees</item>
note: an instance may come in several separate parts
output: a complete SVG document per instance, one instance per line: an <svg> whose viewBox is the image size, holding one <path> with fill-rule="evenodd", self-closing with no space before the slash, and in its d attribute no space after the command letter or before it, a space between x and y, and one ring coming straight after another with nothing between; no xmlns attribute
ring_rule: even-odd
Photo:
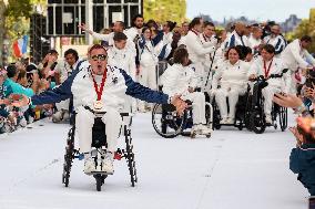
<svg viewBox="0 0 315 209"><path fill-rule="evenodd" d="M186 0L187 18L209 14L213 20L245 15L251 20L285 21L289 14L308 18L315 0Z"/></svg>

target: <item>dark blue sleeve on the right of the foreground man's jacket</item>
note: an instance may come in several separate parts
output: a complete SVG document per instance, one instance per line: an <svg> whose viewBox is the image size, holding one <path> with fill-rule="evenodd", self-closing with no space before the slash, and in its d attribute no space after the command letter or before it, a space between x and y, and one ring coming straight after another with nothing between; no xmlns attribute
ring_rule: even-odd
<svg viewBox="0 0 315 209"><path fill-rule="evenodd" d="M123 70L120 70L121 74L124 77L126 85L126 95L139 98L141 101L145 101L149 103L159 103L159 104L167 104L169 95L153 91L149 87L141 85L138 82L134 82L131 76L129 76Z"/></svg>

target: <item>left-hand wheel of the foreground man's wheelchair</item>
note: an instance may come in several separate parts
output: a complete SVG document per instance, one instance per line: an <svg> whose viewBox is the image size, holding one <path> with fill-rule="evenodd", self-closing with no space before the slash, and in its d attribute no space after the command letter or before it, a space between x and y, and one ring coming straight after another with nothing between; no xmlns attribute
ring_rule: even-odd
<svg viewBox="0 0 315 209"><path fill-rule="evenodd" d="M65 187L69 186L73 158L74 158L74 127L72 127L68 133L67 147L64 154L62 184L64 184Z"/></svg>

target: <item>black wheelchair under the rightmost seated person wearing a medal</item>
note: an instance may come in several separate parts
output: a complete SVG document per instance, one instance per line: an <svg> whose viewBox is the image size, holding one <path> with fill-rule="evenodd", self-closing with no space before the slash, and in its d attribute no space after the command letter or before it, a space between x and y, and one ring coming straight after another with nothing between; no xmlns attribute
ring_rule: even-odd
<svg viewBox="0 0 315 209"><path fill-rule="evenodd" d="M271 74L268 79L281 79L287 69L283 70L281 74ZM262 95L262 90L268 85L267 80L264 76L258 76L254 79L253 92L248 96L247 104L247 117L248 117L248 129L256 134L262 134L265 132L267 126L274 126L277 128L277 117L280 122L281 130L284 132L287 128L287 108L273 103L272 106L272 124L266 124L265 113L264 113L264 97Z"/></svg>

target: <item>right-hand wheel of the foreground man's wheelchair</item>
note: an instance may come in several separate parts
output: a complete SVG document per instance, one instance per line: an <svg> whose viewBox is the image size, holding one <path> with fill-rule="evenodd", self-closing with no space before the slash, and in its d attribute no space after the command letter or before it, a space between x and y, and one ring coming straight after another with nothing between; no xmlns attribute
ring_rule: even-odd
<svg viewBox="0 0 315 209"><path fill-rule="evenodd" d="M131 186L134 187L135 182L138 182L138 177L136 177L136 169L135 169L135 160L134 160L131 132L130 132L130 129L126 128L126 126L124 126L124 136L125 136L125 153L124 153L124 155L125 155L125 159L126 159L126 163L128 163Z"/></svg>

